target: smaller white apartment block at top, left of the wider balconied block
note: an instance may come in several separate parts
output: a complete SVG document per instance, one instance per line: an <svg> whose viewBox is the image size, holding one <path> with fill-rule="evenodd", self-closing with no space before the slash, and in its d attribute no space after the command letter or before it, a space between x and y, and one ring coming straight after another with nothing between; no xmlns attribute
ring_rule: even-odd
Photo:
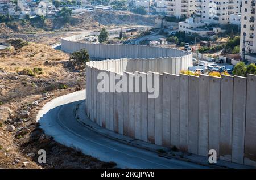
<svg viewBox="0 0 256 180"><path fill-rule="evenodd" d="M191 17L196 13L198 0L166 0L167 15L176 18Z"/></svg>

